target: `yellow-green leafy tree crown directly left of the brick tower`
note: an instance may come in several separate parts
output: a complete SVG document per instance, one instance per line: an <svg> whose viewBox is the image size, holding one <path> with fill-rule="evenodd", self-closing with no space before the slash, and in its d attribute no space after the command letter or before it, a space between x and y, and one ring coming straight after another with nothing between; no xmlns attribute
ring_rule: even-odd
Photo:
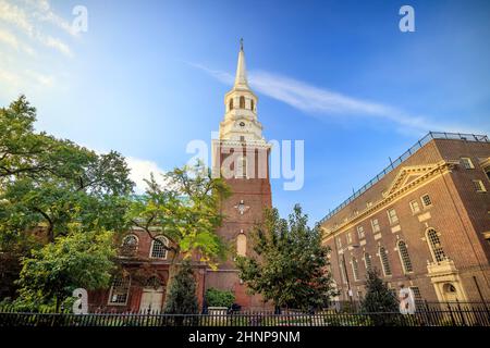
<svg viewBox="0 0 490 348"><path fill-rule="evenodd" d="M226 246L217 235L223 216L219 204L230 195L221 178L211 177L203 163L174 169L164 185L151 176L146 192L136 197L127 220L150 238L163 235L173 261L197 257L211 266L224 259Z"/></svg>

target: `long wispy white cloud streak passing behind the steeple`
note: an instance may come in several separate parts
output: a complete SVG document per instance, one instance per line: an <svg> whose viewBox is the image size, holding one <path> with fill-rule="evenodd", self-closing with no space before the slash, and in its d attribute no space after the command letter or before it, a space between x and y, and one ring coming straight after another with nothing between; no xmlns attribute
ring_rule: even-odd
<svg viewBox="0 0 490 348"><path fill-rule="evenodd" d="M201 64L189 64L205 71L223 84L233 84L233 75L229 73L211 70ZM249 73L249 82L258 92L316 117L343 116L385 120L399 124L401 132L412 129L412 132L419 133L428 130L475 133L475 129L467 126L432 122L427 116L413 115L391 105L345 96L280 74L253 71Z"/></svg>

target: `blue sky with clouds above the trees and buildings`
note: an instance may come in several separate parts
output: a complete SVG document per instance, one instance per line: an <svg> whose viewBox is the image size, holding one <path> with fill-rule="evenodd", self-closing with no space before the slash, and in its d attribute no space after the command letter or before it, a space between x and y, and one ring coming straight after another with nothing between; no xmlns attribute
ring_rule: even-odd
<svg viewBox="0 0 490 348"><path fill-rule="evenodd" d="M135 177L170 170L218 130L241 37L266 138L305 141L303 189L272 181L282 214L318 221L428 130L490 133L488 1L0 0L0 104L25 94L39 130Z"/></svg>

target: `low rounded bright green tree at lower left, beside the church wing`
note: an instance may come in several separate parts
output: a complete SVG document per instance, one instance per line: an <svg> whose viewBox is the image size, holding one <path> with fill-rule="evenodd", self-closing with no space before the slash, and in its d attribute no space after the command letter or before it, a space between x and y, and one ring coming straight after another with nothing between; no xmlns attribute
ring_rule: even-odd
<svg viewBox="0 0 490 348"><path fill-rule="evenodd" d="M112 241L110 232L72 231L34 251L22 261L21 301L36 308L54 299L58 312L60 303L75 288L91 290L109 286L115 257Z"/></svg>

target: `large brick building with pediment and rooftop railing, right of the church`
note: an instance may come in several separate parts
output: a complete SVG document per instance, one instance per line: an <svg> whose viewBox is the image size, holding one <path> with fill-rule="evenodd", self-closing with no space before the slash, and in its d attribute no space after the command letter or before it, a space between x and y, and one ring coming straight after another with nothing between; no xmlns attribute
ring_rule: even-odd
<svg viewBox="0 0 490 348"><path fill-rule="evenodd" d="M320 225L340 300L366 270L428 301L490 299L490 141L429 133Z"/></svg>

